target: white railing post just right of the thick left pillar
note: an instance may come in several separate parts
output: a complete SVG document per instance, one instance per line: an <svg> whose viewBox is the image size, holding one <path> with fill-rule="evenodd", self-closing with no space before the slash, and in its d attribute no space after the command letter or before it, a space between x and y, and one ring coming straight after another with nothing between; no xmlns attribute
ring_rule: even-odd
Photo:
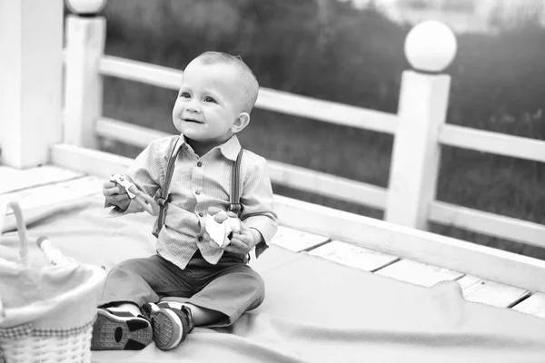
<svg viewBox="0 0 545 363"><path fill-rule="evenodd" d="M80 4L81 3L81 4ZM93 5L87 9L80 5ZM79 15L66 19L66 68L64 82L64 142L96 148L96 121L102 116L103 80L98 73L104 55L106 23L95 16L105 1L70 0Z"/></svg>

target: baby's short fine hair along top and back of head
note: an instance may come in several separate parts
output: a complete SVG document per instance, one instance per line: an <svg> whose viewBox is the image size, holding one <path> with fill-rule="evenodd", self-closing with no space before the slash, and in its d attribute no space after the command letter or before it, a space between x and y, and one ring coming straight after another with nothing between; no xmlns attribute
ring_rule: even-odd
<svg viewBox="0 0 545 363"><path fill-rule="evenodd" d="M246 98L243 102L243 111L245 113L252 112L253 105L257 100L257 94L259 93L259 83L250 67L243 62L243 59L239 55L235 56L223 52L204 52L198 55L195 60L199 60L203 64L226 63L236 66L241 76L243 93Z"/></svg>

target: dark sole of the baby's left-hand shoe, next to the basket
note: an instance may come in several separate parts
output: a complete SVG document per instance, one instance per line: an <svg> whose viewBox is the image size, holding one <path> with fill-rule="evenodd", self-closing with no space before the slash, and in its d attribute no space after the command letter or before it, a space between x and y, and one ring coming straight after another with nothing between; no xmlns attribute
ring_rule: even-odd
<svg viewBox="0 0 545 363"><path fill-rule="evenodd" d="M118 317L109 311L98 310L91 350L141 350L152 341L153 330L147 320Z"/></svg>

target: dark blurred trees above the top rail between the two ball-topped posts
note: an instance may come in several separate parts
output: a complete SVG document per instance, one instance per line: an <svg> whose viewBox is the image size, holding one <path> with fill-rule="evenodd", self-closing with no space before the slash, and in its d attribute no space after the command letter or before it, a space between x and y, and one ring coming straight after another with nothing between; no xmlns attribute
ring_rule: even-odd
<svg viewBox="0 0 545 363"><path fill-rule="evenodd" d="M406 29L375 11L330 0L115 0L105 13L108 42L139 60L183 68L219 50L241 55L264 87L397 107Z"/></svg>

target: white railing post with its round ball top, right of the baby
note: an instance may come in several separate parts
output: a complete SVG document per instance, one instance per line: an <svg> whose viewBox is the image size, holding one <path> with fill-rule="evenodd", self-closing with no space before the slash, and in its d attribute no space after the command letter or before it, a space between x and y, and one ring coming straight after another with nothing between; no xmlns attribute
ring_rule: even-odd
<svg viewBox="0 0 545 363"><path fill-rule="evenodd" d="M456 48L454 34L439 22L416 25L407 35L405 54L416 71L402 74L385 221L427 229L441 159L438 134L451 86L451 77L439 73L451 64Z"/></svg>

